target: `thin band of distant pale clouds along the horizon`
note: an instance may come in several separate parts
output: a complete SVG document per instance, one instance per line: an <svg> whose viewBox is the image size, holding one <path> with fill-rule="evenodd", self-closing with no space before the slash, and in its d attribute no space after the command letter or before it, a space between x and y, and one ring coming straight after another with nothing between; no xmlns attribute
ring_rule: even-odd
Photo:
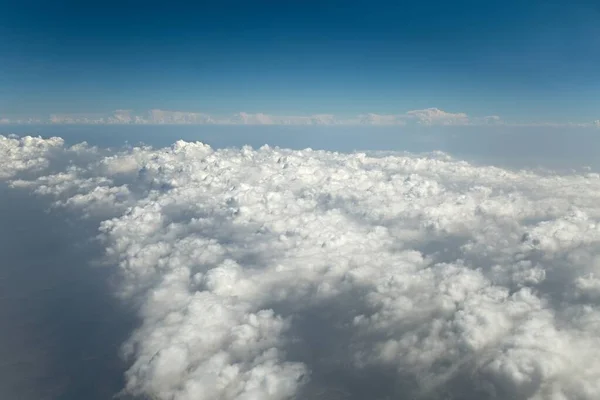
<svg viewBox="0 0 600 400"><path fill-rule="evenodd" d="M320 126L489 126L513 127L600 127L600 120L589 123L510 123L497 115L472 117L464 112L448 112L439 108L410 110L399 114L364 113L340 117L333 114L273 115L239 112L232 115L212 115L202 112L152 109L136 113L115 110L111 114L51 114L47 119L0 118L0 124L114 124L114 125L320 125Z"/></svg>

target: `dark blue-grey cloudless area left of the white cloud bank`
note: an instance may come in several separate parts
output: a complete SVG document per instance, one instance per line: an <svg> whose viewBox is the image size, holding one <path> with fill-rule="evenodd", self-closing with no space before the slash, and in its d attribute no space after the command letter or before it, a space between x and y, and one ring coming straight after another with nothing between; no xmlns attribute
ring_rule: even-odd
<svg viewBox="0 0 600 400"><path fill-rule="evenodd" d="M97 221L0 185L0 398L109 399L136 321L99 265Z"/></svg>

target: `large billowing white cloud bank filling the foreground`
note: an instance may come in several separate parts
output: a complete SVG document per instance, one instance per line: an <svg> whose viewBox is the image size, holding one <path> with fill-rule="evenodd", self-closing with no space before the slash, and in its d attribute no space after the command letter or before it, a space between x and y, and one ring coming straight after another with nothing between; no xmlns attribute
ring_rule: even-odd
<svg viewBox="0 0 600 400"><path fill-rule="evenodd" d="M130 393L600 394L598 174L440 153L0 143L2 179L103 220L119 296L140 304Z"/></svg>

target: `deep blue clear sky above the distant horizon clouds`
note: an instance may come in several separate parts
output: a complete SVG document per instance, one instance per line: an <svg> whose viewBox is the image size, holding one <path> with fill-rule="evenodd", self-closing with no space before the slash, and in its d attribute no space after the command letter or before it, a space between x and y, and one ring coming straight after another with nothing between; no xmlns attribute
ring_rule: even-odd
<svg viewBox="0 0 600 400"><path fill-rule="evenodd" d="M600 2L0 1L0 116L600 117Z"/></svg>

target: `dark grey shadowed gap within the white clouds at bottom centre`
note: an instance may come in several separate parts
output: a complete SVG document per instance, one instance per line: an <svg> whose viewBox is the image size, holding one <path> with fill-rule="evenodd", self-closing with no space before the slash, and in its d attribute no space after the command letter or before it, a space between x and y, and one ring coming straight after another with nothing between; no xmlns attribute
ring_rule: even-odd
<svg viewBox="0 0 600 400"><path fill-rule="evenodd" d="M373 351L382 337L361 337L352 326L355 315L369 313L364 301L367 288L355 287L312 306L271 304L283 315L292 315L285 348L286 358L305 363L310 379L300 389L297 399L314 400L525 400L526 396L503 393L501 385L482 379L476 365L483 354L474 353L467 360L440 365L439 374L419 376L410 365L369 363L358 365L357 352ZM419 330L407 325L395 330L397 337ZM376 335L385 332L376 333ZM483 353L483 351L482 351ZM423 371L425 372L425 371Z"/></svg>

